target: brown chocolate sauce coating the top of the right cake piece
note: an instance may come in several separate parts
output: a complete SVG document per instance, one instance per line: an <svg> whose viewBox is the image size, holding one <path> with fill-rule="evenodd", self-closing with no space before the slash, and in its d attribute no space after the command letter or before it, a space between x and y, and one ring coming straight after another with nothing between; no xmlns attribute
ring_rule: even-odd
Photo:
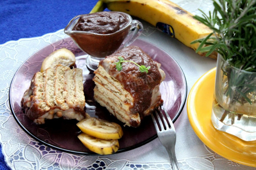
<svg viewBox="0 0 256 170"><path fill-rule="evenodd" d="M123 62L121 71L118 71L114 64L108 65L110 66L108 73L120 81L124 85L124 89L135 99L134 106L130 108L131 113L139 113L142 116L150 106L152 90L160 84L162 79L157 63L137 46L122 48L106 58L110 58L115 63L119 60L118 56L123 57L124 60L134 61L139 65L150 66L148 73L142 73L139 67L131 62ZM104 69L108 69L103 61L100 61L100 65Z"/></svg>

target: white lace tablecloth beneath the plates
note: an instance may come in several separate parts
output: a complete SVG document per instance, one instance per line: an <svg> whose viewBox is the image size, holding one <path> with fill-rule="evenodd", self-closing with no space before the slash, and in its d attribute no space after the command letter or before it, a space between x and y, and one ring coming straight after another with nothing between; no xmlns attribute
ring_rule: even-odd
<svg viewBox="0 0 256 170"><path fill-rule="evenodd" d="M175 1L174 1L175 2ZM210 0L176 2L194 14L197 8L210 10ZM143 40L167 51L183 69L188 92L204 73L216 66L216 60L197 55L192 49L143 22ZM20 39L0 45L0 143L6 164L16 170L75 169L171 169L168 154L158 138L139 148L108 156L79 156L44 146L28 136L16 123L9 105L9 88L18 67L33 53L67 37L63 30L42 37ZM22 83L22 82L21 82ZM177 132L176 156L182 170L255 170L219 156L196 136L188 121L186 103L174 123Z"/></svg>

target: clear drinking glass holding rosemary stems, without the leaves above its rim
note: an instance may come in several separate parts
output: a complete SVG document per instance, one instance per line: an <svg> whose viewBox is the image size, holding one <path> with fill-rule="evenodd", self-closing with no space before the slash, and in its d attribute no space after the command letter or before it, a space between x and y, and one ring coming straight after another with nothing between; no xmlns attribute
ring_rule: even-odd
<svg viewBox="0 0 256 170"><path fill-rule="evenodd" d="M256 73L233 67L218 55L212 124L242 140L256 140Z"/></svg>

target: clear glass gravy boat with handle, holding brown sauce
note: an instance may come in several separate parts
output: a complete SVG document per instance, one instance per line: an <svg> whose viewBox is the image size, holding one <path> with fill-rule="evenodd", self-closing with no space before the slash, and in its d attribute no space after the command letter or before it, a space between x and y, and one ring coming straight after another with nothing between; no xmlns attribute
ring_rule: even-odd
<svg viewBox="0 0 256 170"><path fill-rule="evenodd" d="M78 20L86 14L75 16L64 29L65 34L70 36L76 45L88 54L84 56L84 59L86 59L86 66L92 71L97 69L102 59L118 49L130 45L143 31L141 22L132 20L132 17L126 13L118 13L127 16L128 23L124 28L111 34L97 34L73 30Z"/></svg>

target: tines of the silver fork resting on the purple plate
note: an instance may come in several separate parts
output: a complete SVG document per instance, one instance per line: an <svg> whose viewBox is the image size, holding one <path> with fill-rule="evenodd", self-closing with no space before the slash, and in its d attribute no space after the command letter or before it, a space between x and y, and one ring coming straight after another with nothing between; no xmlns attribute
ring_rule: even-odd
<svg viewBox="0 0 256 170"><path fill-rule="evenodd" d="M155 109L155 115L158 121L156 121L154 114L151 114L152 119L154 120L153 122L155 124L155 127L158 127L158 129L156 128L156 130L162 131L168 130L168 128L172 128L172 130L175 130L172 120L163 106L158 107L158 109Z"/></svg>

